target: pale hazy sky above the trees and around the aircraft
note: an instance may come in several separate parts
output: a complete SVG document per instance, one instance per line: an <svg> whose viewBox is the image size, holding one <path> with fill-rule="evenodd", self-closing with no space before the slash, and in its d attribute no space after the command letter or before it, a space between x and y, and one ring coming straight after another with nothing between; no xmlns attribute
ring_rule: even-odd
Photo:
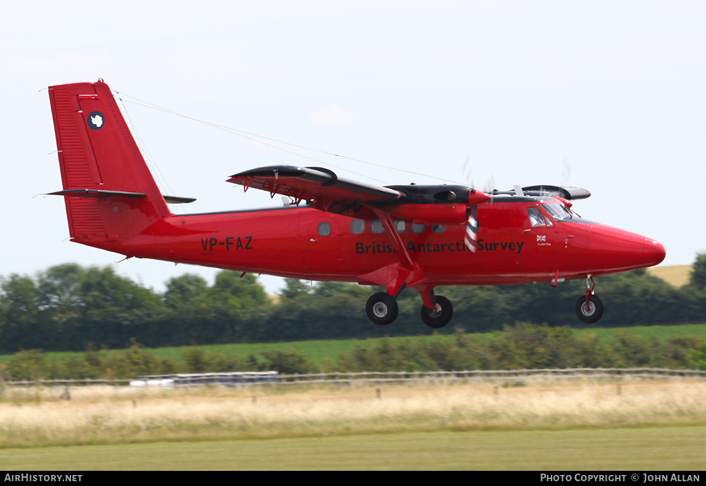
<svg viewBox="0 0 706 486"><path fill-rule="evenodd" d="M698 1L5 2L0 275L76 262L157 291L184 273L213 282L69 242L64 202L41 195L61 189L44 88L98 78L126 100L164 194L197 198L174 212L281 205L225 182L273 164L381 185L565 182L592 192L574 205L585 218L658 239L662 265L692 263L705 20Z"/></svg>

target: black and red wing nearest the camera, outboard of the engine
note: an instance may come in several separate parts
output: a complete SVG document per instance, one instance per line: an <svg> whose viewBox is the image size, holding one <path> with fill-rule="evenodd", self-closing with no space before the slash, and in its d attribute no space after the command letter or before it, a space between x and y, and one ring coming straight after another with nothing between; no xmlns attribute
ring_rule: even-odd
<svg viewBox="0 0 706 486"><path fill-rule="evenodd" d="M352 206L366 203L385 203L404 198L405 194L387 187L363 184L343 177L323 167L294 167L270 165L232 175L228 182L268 191L270 196L282 194L294 203L311 201L313 208L332 213L349 211Z"/></svg>

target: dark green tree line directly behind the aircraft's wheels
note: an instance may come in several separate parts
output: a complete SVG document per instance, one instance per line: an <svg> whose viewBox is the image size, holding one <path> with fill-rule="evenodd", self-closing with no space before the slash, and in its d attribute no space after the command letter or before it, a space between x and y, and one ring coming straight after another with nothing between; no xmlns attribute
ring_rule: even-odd
<svg viewBox="0 0 706 486"><path fill-rule="evenodd" d="M674 288L644 270L597 278L605 307L592 327L702 322L706 316L706 254L698 255L690 283ZM309 285L287 279L277 300L254 275L221 271L213 285L198 275L171 278L162 293L117 275L111 267L76 263L35 276L0 279L0 352L42 349L125 349L133 340L148 348L215 343L377 338L431 334L419 318L414 290L398 297L400 314L389 326L367 319L373 292L349 283ZM451 324L469 332L496 331L515 321L580 327L575 302L582 281L437 288L454 305Z"/></svg>

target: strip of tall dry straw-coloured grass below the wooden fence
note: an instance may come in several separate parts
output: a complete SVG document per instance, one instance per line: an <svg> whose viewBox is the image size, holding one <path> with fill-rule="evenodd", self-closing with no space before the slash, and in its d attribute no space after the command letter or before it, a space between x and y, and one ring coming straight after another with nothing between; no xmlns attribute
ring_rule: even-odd
<svg viewBox="0 0 706 486"><path fill-rule="evenodd" d="M3 447L305 437L432 430L706 424L706 382L347 389L6 389ZM495 391L498 394L494 394ZM253 399L253 397L255 397Z"/></svg>

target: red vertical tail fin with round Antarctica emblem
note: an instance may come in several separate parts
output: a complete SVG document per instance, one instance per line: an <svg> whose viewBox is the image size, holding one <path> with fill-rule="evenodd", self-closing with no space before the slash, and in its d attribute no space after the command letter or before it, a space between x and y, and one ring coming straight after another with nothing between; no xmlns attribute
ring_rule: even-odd
<svg viewBox="0 0 706 486"><path fill-rule="evenodd" d="M106 83L50 86L49 101L65 191L145 195L65 196L72 238L96 243L124 240L170 214Z"/></svg>

